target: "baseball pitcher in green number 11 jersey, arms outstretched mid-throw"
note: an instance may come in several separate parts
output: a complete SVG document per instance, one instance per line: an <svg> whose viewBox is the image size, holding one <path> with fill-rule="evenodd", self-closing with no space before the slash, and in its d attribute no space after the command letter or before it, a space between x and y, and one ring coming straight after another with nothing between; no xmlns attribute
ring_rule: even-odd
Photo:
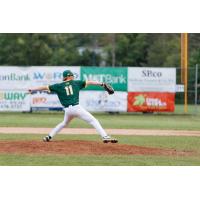
<svg viewBox="0 0 200 200"><path fill-rule="evenodd" d="M104 143L117 143L117 139L111 138L105 130L100 125L99 121L94 118L88 111L86 111L81 105L79 105L79 92L81 89L85 88L87 85L97 85L104 87L104 89L109 93L113 94L113 88L106 84L96 81L79 81L74 80L74 75L70 70L65 70L63 72L63 82L42 86L36 88L30 88L29 93L35 91L50 91L54 92L58 95L60 103L64 107L64 119L58 124L47 136L43 138L44 142L49 142L52 138L65 126L69 124L69 122L78 117L87 123L91 124L96 131L100 134Z"/></svg>

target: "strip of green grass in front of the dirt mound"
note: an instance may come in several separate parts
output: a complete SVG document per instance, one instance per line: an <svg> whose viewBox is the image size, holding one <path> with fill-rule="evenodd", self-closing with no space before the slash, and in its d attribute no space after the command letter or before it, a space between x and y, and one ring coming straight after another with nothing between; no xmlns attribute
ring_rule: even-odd
<svg viewBox="0 0 200 200"><path fill-rule="evenodd" d="M0 155L1 166L199 166L198 157Z"/></svg>

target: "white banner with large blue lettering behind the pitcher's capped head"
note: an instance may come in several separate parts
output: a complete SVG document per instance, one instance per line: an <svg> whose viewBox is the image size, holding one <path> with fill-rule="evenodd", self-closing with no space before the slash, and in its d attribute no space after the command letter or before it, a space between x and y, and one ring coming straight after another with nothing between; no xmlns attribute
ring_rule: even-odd
<svg viewBox="0 0 200 200"><path fill-rule="evenodd" d="M30 67L31 86L52 85L62 82L62 74L65 70L71 70L75 80L80 79L80 67Z"/></svg>

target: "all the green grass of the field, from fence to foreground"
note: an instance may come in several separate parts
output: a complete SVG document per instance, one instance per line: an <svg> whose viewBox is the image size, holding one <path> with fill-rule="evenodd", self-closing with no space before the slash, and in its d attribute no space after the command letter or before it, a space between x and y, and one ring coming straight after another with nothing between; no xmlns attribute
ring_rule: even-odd
<svg viewBox="0 0 200 200"><path fill-rule="evenodd" d="M95 114L104 128L200 130L199 115ZM0 113L1 127L54 127L63 113ZM112 120L111 120L112 119ZM88 128L78 119L69 127ZM43 135L0 134L0 140L41 140ZM200 165L200 137L116 136L121 144L194 151L194 156L83 156L1 154L0 165L13 166L190 166ZM99 140L98 135L57 135L56 140Z"/></svg>

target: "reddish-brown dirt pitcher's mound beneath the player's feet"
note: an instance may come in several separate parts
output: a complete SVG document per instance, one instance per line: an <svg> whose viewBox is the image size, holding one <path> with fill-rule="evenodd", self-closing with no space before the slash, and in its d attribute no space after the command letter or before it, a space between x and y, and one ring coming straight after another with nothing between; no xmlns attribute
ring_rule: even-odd
<svg viewBox="0 0 200 200"><path fill-rule="evenodd" d="M95 141L0 141L0 153L62 155L188 155L189 152Z"/></svg>

